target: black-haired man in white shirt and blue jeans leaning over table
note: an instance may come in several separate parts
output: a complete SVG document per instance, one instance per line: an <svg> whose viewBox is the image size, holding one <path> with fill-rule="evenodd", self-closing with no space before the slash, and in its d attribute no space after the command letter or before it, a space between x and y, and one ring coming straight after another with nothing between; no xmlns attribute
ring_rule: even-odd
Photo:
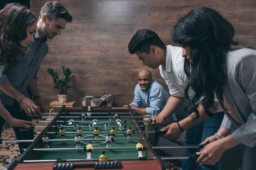
<svg viewBox="0 0 256 170"><path fill-rule="evenodd" d="M171 95L165 108L157 115L152 116L152 126L163 127L164 120L175 113L184 100L184 91L188 78L184 71L183 49L172 45L166 46L158 35L151 30L138 30L132 37L129 45L129 52L136 54L138 59L142 60L143 65L156 69L159 67L161 76L165 79ZM192 98L194 92L189 89L189 98ZM218 101L217 99L215 101ZM215 109L216 108L216 109ZM212 136L218 131L224 116L218 109L218 102L214 102L210 109L215 114L214 117L208 117L202 105L198 103L199 117L195 112L185 119L164 127L161 131L166 131L164 137L175 140L178 139L184 130L184 144L195 145L203 142L207 137ZM184 156L198 152L197 149L185 149ZM183 170L195 170L198 164L192 161L183 160ZM200 164L204 170L220 170L220 162L210 166Z"/></svg>

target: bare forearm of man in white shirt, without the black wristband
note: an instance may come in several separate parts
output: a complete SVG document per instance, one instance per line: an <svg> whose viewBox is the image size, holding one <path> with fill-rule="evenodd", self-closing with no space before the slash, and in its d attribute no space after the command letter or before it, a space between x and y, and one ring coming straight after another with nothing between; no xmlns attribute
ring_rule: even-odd
<svg viewBox="0 0 256 170"><path fill-rule="evenodd" d="M170 117L182 104L184 97L170 96L163 110L157 115L163 119Z"/></svg>

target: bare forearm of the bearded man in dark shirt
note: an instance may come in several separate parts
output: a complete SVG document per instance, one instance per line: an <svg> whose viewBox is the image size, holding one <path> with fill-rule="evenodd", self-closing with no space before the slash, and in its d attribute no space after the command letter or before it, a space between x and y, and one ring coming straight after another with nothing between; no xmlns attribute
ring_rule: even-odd
<svg viewBox="0 0 256 170"><path fill-rule="evenodd" d="M0 90L3 91L5 94L11 96L12 98L16 99L18 102L21 102L22 99L25 98L25 96L17 91L11 84L9 80L6 82L0 83Z"/></svg>

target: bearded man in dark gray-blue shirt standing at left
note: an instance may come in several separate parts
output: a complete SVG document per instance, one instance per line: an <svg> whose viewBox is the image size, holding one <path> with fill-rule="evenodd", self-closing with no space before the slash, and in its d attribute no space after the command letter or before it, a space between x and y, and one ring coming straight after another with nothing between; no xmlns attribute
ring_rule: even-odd
<svg viewBox="0 0 256 170"><path fill-rule="evenodd" d="M37 112L44 111L41 96L37 87L37 72L41 62L48 52L47 38L60 35L67 23L72 22L72 16L61 3L47 2L41 9L34 42L29 43L29 52L17 67L5 66L0 75L0 99L7 111L16 119L31 121L28 116L38 116ZM32 96L33 100L30 99ZM0 135L5 120L0 116ZM20 131L13 127L17 140L34 138L33 130ZM18 143L20 151L30 143Z"/></svg>

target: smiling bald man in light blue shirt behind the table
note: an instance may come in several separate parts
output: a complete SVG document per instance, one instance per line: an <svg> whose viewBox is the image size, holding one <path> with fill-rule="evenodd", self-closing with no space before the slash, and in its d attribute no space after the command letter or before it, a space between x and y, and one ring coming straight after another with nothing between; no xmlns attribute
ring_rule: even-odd
<svg viewBox="0 0 256 170"><path fill-rule="evenodd" d="M168 93L164 90L162 85L152 79L151 71L148 69L140 71L138 79L139 84L136 85L134 90L134 100L130 104L131 111L144 116L157 116L157 114L163 110L169 99ZM142 103L146 108L140 108ZM125 105L124 107L128 107L128 105ZM150 120L150 116L145 117L143 120ZM177 119L175 114L173 114L171 118L168 118L167 121L165 121L165 124L169 125L176 121ZM146 131L155 130L155 128L151 126L150 122L144 122L144 125ZM147 138L150 138L149 141L151 145L154 145L155 134L146 133L146 136Z"/></svg>

